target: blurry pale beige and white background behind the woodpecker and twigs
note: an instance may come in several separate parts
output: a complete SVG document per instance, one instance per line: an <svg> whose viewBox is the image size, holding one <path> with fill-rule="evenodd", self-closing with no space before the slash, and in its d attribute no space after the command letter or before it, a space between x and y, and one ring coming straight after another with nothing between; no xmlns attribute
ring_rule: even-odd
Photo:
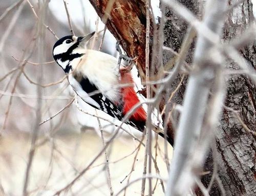
<svg viewBox="0 0 256 196"><path fill-rule="evenodd" d="M75 0L67 3L76 35L104 29L89 1ZM158 1L154 1L156 17L160 16L158 4ZM25 179L28 178L28 195L53 195L86 168L102 149L99 125L92 127L90 124L87 127L90 115L78 111L74 103L45 124L37 126L38 120L43 121L53 116L70 103L73 94L67 80L63 80L62 69L53 62L52 46L57 40L54 35L44 28L41 42L33 41L38 29L35 14L40 18L38 8L43 5L47 6L43 19L46 26L59 38L69 35L67 14L62 0L1 0L0 195L23 195ZM102 33L96 40L96 50L101 35ZM116 56L115 43L115 38L106 31L101 51ZM38 64L40 60L44 64ZM133 68L132 71L137 83L136 89L140 90L142 86L137 70ZM37 99L38 91L41 93L41 102ZM38 112L41 114L40 119L36 115ZM111 130L114 131L114 128ZM141 135L132 133L134 137ZM110 134L111 132L105 133L105 140L111 137ZM164 157L166 149L163 139L154 140L153 146L153 154L160 170L159 176L166 178L168 161ZM114 194L128 181L143 176L144 147L134 138L127 135L118 137L107 151ZM171 151L168 146L168 152ZM31 152L34 152L32 158ZM31 166L28 166L30 163ZM27 170L29 175L26 174ZM153 170L155 173L155 169ZM110 195L107 176L103 153L88 172L61 195ZM153 182L155 195L163 195L160 181ZM129 186L125 194L140 195L140 191L141 181L138 181ZM121 194L124 195L124 192Z"/></svg>

